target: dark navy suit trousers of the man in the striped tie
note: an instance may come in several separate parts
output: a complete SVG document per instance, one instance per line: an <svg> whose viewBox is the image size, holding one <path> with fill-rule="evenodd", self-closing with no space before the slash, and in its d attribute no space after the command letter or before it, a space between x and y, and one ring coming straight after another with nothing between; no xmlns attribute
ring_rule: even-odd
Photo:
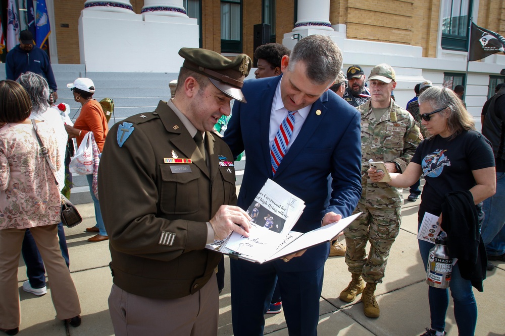
<svg viewBox="0 0 505 336"><path fill-rule="evenodd" d="M319 321L319 299L324 265L304 272L281 271L272 261L255 264L230 259L231 316L235 336L261 336L264 314L270 306L275 278L290 336L315 336Z"/></svg>

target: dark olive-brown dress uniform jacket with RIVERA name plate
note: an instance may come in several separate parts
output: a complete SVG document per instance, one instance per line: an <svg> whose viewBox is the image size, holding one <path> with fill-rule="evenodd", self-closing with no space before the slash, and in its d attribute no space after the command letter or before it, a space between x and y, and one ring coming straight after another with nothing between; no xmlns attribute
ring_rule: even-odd
<svg viewBox="0 0 505 336"><path fill-rule="evenodd" d="M212 132L205 139L210 171L163 101L155 112L111 128L98 190L114 283L121 289L174 299L197 292L211 278L221 254L204 249L206 222L221 205L235 205L237 196L230 149ZM191 163L170 163L175 158Z"/></svg>

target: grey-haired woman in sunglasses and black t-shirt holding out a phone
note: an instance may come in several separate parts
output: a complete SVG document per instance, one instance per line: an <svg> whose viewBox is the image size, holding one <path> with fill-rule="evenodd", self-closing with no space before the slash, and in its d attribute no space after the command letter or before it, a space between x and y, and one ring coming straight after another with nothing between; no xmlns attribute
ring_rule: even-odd
<svg viewBox="0 0 505 336"><path fill-rule="evenodd" d="M407 188L424 176L418 217L420 224L426 212L435 216L442 213L445 196L451 191L470 191L478 218L482 220L481 202L492 196L496 187L494 156L489 142L475 130L473 117L450 89L427 89L419 96L419 108L422 125L430 136L416 149L405 172L390 173L391 181L388 184ZM378 182L383 173L370 169L369 176L372 181ZM440 218L439 222L443 228L443 219ZM419 240L425 270L429 250L433 246L432 243ZM472 282L462 278L458 262L452 268L449 288L454 300L459 335L473 335L477 324L477 304ZM428 298L431 328L426 328L422 336L444 335L448 290L429 287Z"/></svg>

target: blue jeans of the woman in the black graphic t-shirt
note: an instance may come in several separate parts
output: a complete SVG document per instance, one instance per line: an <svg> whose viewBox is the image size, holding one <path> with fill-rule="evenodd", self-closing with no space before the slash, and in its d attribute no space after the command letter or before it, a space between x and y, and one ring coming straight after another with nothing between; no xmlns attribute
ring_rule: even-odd
<svg viewBox="0 0 505 336"><path fill-rule="evenodd" d="M418 242L424 269L426 270L429 251L435 245L424 240L418 240ZM450 295L454 300L454 317L458 325L458 334L459 336L473 336L477 324L477 303L473 295L472 283L461 277L458 263L452 267L449 288ZM445 315L449 307L448 290L429 286L428 300L430 302L431 328L444 331Z"/></svg>

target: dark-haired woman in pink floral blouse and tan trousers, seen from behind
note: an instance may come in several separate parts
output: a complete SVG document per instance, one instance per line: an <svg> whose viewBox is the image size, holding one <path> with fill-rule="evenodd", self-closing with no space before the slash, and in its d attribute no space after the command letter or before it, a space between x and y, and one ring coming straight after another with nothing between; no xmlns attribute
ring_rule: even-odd
<svg viewBox="0 0 505 336"><path fill-rule="evenodd" d="M51 279L57 317L81 322L79 298L58 244L60 190L28 119L32 103L14 81L0 81L0 330L18 333L18 262L30 229ZM61 162L53 126L37 121L38 133L58 170Z"/></svg>

